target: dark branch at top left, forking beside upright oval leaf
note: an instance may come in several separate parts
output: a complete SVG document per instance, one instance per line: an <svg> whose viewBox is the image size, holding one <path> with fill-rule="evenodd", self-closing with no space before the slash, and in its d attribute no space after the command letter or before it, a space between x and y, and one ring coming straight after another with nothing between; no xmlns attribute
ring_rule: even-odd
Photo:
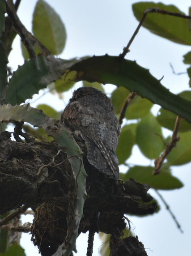
<svg viewBox="0 0 191 256"><path fill-rule="evenodd" d="M7 0L5 1L6 9L8 17L10 18L15 30L21 37L21 41L24 43L30 59L36 59L35 51L34 51L34 45L38 47L38 49L42 52L43 55L48 56L51 54L51 52L38 41L37 38L35 38L21 23L19 17L17 16L17 12L15 10L15 6L13 4L13 0Z"/></svg>

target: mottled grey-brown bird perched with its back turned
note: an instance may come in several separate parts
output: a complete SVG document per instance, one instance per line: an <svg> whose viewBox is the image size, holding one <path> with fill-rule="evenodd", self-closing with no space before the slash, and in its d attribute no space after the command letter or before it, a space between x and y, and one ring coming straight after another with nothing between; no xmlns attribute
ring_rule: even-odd
<svg viewBox="0 0 191 256"><path fill-rule="evenodd" d="M84 141L87 149L85 158L91 166L119 179L115 150L120 125L106 94L92 87L77 89L64 109L60 122L72 129L77 142L78 137Z"/></svg>

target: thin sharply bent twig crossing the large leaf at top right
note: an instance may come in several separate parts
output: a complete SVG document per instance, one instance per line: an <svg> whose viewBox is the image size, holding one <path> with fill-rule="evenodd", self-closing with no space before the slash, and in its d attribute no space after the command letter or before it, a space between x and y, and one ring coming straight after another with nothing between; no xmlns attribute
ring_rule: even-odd
<svg viewBox="0 0 191 256"><path fill-rule="evenodd" d="M129 40L129 43L127 44L127 46L123 48L123 53L121 53L119 55L119 57L124 58L125 55L130 51L129 47L132 44L136 35L138 34L138 32L140 30L140 27L142 26L142 24L143 24L145 18L147 17L148 13L161 13L161 14L164 14L164 15L170 15L170 16L175 16L175 17L180 17L180 18L185 18L185 19L191 19L191 16L189 16L189 15L184 15L184 14L181 14L181 13L172 13L172 12L169 12L169 11L166 11L166 10L161 10L159 8L148 8L148 9L146 9L143 12L143 16L142 16L142 18L139 22L139 25L137 26L134 34L132 35L132 38Z"/></svg>

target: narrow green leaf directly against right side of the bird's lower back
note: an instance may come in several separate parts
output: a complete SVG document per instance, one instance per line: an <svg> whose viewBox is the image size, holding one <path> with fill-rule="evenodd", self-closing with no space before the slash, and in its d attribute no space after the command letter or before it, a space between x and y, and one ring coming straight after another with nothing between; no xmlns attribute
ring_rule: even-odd
<svg viewBox="0 0 191 256"><path fill-rule="evenodd" d="M137 124L129 124L121 129L119 145L116 150L119 164L123 164L132 154L132 147L135 144L136 126Z"/></svg>

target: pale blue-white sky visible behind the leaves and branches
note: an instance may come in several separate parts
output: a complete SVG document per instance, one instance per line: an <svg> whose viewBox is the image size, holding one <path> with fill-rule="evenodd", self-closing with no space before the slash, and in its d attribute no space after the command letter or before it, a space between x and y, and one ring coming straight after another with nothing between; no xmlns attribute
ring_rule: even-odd
<svg viewBox="0 0 191 256"><path fill-rule="evenodd" d="M47 0L47 2L59 13L66 26L67 43L63 54L60 55L63 59L94 54L104 55L105 53L119 55L138 25L132 13L132 4L137 2L134 0ZM163 0L162 2L176 5L186 14L188 13L189 5L191 5L188 0ZM36 0L22 0L18 9L21 21L30 31L35 4ZM156 15L160 19L160 14ZM157 79L164 76L162 84L169 88L171 92L178 93L183 90L189 90L187 74L174 75L170 68L170 63L173 65L175 72L186 71L187 65L182 62L183 55L191 51L191 47L172 43L141 28L130 50L126 58L137 60L138 64L144 68L149 68ZM23 63L19 37L17 36L13 44L9 65L16 70L17 65L22 65ZM78 84L77 86L80 87L80 85ZM112 91L114 88L115 86L113 85L106 85L107 91ZM40 92L40 94L42 93ZM71 92L67 94L71 94ZM39 95L34 96L35 99L38 97ZM31 100L31 103L33 101L34 99ZM67 102L68 97L64 100L59 100L52 94L47 94L34 102L32 107L36 107L39 103L47 103L51 104L56 110L61 111ZM128 162L140 165L148 165L150 163L150 160L140 156L136 147L133 153L135 153L134 156ZM161 191L161 194L180 222L184 231L183 234L177 229L170 214L152 189L149 192L158 200L161 205L161 211L149 217L128 216L133 223L135 234L144 244L144 247L148 248L146 251L149 256L179 256L189 255L190 253L191 206L190 201L188 201L190 200L191 192L190 168L191 164L181 168L173 168L173 174L184 183L185 186L183 188L169 192ZM77 239L77 256L86 255L87 239L87 234ZM21 244L25 248L27 256L38 255L38 250L30 242L29 234L23 235ZM101 242L95 238L93 256L98 256L100 245Z"/></svg>

